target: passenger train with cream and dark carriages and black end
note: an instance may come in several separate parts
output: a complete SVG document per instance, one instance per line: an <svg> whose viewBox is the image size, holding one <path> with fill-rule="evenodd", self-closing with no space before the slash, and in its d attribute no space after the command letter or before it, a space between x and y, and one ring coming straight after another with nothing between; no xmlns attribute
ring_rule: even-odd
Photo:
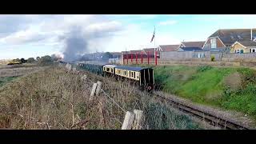
<svg viewBox="0 0 256 144"><path fill-rule="evenodd" d="M78 68L89 70L102 76L111 76L122 82L133 82L142 90L151 91L154 88L154 70L146 67L95 65L79 63Z"/></svg>

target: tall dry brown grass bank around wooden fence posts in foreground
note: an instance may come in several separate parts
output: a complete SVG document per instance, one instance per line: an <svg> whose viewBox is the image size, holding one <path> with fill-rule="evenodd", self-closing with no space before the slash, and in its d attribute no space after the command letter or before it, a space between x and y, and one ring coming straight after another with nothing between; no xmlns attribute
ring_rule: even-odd
<svg viewBox="0 0 256 144"><path fill-rule="evenodd" d="M86 74L87 78L82 79ZM89 101L92 82L102 81L101 93ZM0 88L0 127L11 129L121 129L126 110L143 110L144 128L202 129L150 94L124 82L86 72L49 68L23 76Z"/></svg>

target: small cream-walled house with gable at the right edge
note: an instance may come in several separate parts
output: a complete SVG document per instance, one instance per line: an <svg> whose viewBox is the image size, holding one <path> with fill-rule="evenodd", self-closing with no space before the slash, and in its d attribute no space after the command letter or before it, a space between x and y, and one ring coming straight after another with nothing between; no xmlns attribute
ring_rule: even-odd
<svg viewBox="0 0 256 144"><path fill-rule="evenodd" d="M237 41L230 46L230 53L255 53L256 42L255 41Z"/></svg>

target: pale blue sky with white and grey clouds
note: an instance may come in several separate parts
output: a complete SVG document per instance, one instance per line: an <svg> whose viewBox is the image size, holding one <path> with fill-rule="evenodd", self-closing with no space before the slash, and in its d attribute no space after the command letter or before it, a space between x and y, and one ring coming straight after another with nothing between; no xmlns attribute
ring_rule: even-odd
<svg viewBox="0 0 256 144"><path fill-rule="evenodd" d="M150 42L155 26L155 44ZM102 14L0 15L0 59L65 54L70 31L81 33L79 54L140 50L182 41L205 41L218 29L256 28L256 15ZM73 34L74 35L74 34ZM79 38L77 38L79 40ZM81 39L81 38L80 38ZM72 47L73 46L73 47ZM74 50L76 50L74 48Z"/></svg>

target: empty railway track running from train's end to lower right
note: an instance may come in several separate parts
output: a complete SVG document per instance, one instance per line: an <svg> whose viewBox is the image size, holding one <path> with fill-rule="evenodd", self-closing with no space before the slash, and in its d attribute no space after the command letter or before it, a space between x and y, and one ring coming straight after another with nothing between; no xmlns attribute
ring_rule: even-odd
<svg viewBox="0 0 256 144"><path fill-rule="evenodd" d="M154 93L154 95L157 96L157 98L162 102L168 102L171 106L174 108L177 108L178 110L181 110L185 112L186 114L190 114L194 117L200 118L205 122L208 122L212 126L218 126L225 130L250 130L249 127L242 126L236 122L231 122L230 120L219 118L217 115L209 114L206 111L198 110L196 108L193 108L191 106L186 106L185 104L182 104L181 102L174 101L171 98L166 98L160 94Z"/></svg>

